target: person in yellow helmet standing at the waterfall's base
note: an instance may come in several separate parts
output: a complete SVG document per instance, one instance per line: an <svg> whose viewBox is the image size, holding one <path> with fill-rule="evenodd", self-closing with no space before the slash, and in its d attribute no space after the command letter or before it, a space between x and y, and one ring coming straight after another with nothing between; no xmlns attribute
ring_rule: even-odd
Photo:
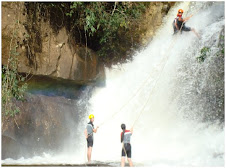
<svg viewBox="0 0 226 168"><path fill-rule="evenodd" d="M85 137L87 140L87 158L88 162L90 163L91 161L91 154L92 154L92 148L93 148L93 133L97 132L97 129L99 127L94 128L93 122L94 122L94 115L90 114L89 115L90 122L87 124L86 129L84 131Z"/></svg>

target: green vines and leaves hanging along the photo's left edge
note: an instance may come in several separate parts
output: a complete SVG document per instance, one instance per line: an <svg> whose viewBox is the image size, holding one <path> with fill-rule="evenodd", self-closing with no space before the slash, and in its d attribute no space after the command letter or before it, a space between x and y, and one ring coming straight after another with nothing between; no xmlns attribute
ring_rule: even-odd
<svg viewBox="0 0 226 168"><path fill-rule="evenodd" d="M14 116L20 110L13 102L16 100L23 100L24 93L27 88L27 84L20 85L20 82L24 81L24 77L18 74L18 56L17 52L17 30L19 21L15 23L15 29L12 33L9 46L9 58L8 64L2 66L2 117L3 121L5 117Z"/></svg>

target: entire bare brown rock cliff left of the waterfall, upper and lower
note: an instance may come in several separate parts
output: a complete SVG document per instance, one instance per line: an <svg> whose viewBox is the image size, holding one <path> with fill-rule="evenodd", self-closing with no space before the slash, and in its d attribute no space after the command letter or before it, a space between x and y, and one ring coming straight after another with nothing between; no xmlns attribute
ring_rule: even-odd
<svg viewBox="0 0 226 168"><path fill-rule="evenodd" d="M140 24L144 44L171 5L156 2L150 6ZM33 77L26 101L15 102L21 112L2 125L2 159L60 150L62 141L72 136L69 128L81 129L81 120L87 118L90 90L84 93L84 85L105 79L93 50L76 44L65 28L56 33L48 21L27 13L24 2L2 2L3 65L8 62L13 33L17 33L14 38L20 53L18 71ZM73 134L74 140L79 136Z"/></svg>

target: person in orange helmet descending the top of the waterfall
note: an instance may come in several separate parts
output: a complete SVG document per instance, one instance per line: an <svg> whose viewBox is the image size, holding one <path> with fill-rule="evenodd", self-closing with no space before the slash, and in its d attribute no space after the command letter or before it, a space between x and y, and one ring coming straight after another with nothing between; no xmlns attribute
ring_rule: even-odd
<svg viewBox="0 0 226 168"><path fill-rule="evenodd" d="M173 29L174 29L174 34L181 32L182 31L193 31L195 35L200 38L199 34L195 31L194 28L187 27L185 26L185 22L188 21L193 15L182 18L184 11L182 9L178 10L177 17L173 21Z"/></svg>

